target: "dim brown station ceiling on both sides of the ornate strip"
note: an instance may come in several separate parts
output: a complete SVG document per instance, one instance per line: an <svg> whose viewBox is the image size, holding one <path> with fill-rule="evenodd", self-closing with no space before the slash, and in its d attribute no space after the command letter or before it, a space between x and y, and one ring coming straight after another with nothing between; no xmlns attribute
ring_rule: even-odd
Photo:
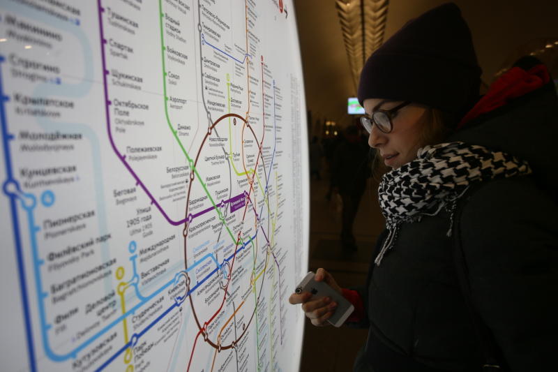
<svg viewBox="0 0 558 372"><path fill-rule="evenodd" d="M390 0L384 40L408 20L444 2ZM518 55L519 50L540 48L539 44L544 44L544 40L558 40L557 0L456 0L455 3L471 28L486 84L492 82L495 73L506 62L511 63L509 61ZM294 0L294 6L312 128L315 131L315 122L326 119L346 126L351 122L346 114L347 98L356 96L356 89L335 1ZM558 50L558 45L552 50L555 56L558 55L554 50Z"/></svg>

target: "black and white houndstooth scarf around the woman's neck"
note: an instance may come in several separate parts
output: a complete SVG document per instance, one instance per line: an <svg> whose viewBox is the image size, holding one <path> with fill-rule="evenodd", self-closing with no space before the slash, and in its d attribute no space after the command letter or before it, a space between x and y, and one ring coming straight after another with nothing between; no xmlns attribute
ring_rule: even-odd
<svg viewBox="0 0 558 372"><path fill-rule="evenodd" d="M529 164L500 151L463 142L448 142L418 149L414 161L384 174L378 195L389 230L377 266L393 247L402 223L435 216L442 208L450 212L451 236L455 202L474 182L531 173Z"/></svg>

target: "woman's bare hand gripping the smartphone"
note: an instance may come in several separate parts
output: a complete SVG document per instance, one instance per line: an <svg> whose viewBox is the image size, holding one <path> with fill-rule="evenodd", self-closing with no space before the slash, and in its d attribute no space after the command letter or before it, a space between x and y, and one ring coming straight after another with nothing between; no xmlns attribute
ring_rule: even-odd
<svg viewBox="0 0 558 372"><path fill-rule="evenodd" d="M315 281L324 281L326 282L333 290L342 294L341 287L335 282L333 276L329 274L326 270L320 268L316 271L316 275L314 276ZM337 303L334 302L331 297L322 297L320 299L312 299L312 294L310 292L302 292L301 294L297 295L293 293L291 297L289 297L289 303L291 304L302 304L302 310L306 315L306 318L310 319L312 325L322 327L324 325L329 325L329 322L326 322L331 315L335 312L335 308L337 308Z"/></svg>

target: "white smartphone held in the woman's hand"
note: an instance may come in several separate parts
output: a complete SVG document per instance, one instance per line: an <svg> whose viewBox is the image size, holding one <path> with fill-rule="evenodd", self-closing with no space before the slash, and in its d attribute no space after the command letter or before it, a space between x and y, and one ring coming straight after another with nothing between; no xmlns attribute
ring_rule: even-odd
<svg viewBox="0 0 558 372"><path fill-rule="evenodd" d="M294 292L297 295L302 292L310 292L312 293L313 299L331 297L333 301L337 302L337 308L335 308L335 312L327 321L335 327L341 327L345 320L349 318L349 315L351 315L354 311L353 304L347 301L343 295L331 288L326 282L315 281L314 276L315 274L312 271L306 274L299 285L296 286Z"/></svg>

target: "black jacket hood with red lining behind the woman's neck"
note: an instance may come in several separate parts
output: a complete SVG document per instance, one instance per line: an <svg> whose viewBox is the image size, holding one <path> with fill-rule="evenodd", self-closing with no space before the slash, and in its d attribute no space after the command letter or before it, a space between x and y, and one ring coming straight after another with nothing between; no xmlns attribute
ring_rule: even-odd
<svg viewBox="0 0 558 372"><path fill-rule="evenodd" d="M558 200L558 97L548 70L523 57L502 75L446 141L478 144L525 160L539 187Z"/></svg>

